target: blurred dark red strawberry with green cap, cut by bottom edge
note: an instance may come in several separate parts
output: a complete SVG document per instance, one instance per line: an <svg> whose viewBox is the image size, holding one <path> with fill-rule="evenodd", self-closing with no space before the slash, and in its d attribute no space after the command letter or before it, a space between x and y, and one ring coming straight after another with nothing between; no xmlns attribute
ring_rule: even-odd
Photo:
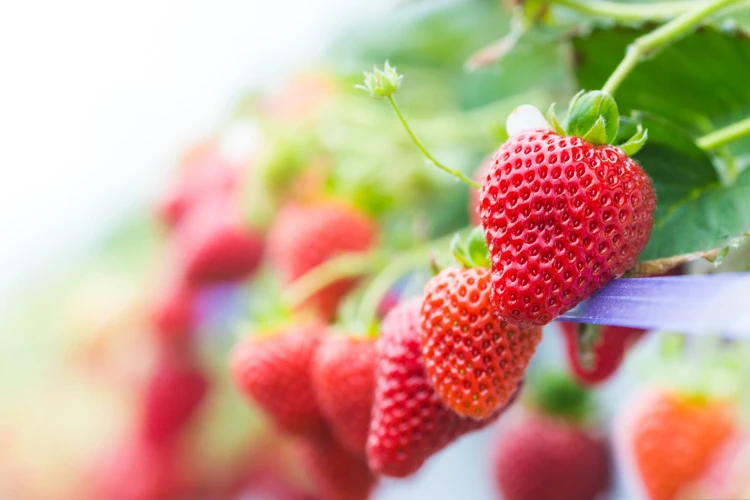
<svg viewBox="0 0 750 500"><path fill-rule="evenodd" d="M591 409L588 392L558 375L536 379L529 389L533 408L517 413L496 441L493 471L502 498L603 495L611 477L609 450L603 436L584 425Z"/></svg>

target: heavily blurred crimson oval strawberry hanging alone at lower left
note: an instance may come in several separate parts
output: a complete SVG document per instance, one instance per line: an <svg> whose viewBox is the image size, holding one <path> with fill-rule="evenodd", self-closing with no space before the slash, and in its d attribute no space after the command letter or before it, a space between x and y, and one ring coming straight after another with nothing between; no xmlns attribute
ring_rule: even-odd
<svg viewBox="0 0 750 500"><path fill-rule="evenodd" d="M169 444L179 436L200 408L208 379L191 356L165 352L148 381L140 417L141 435L154 445Z"/></svg>

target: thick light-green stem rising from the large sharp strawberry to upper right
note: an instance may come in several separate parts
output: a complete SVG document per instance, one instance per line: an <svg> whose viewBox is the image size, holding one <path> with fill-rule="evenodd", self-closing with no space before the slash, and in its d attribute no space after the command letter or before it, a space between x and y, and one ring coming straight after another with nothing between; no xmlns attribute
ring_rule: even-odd
<svg viewBox="0 0 750 500"><path fill-rule="evenodd" d="M613 95L617 87L630 74L635 66L642 60L650 57L659 48L674 42L677 38L685 35L695 28L703 19L724 7L740 0L709 0L698 4L694 9L688 10L672 21L655 29L651 33L636 38L628 45L625 58L615 68L602 87L602 91Z"/></svg>

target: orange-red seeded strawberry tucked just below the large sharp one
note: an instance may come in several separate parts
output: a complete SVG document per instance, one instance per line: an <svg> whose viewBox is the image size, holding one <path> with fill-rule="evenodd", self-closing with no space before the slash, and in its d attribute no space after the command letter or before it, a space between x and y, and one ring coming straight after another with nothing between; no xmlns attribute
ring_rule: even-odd
<svg viewBox="0 0 750 500"><path fill-rule="evenodd" d="M500 320L489 269L445 269L425 286L420 344L443 403L464 417L490 417L523 380L540 327Z"/></svg>

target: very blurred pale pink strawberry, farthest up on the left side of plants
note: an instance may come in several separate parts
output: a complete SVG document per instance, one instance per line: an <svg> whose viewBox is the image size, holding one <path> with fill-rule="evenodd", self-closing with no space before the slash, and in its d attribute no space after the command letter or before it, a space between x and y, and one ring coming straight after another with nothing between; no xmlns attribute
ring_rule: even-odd
<svg viewBox="0 0 750 500"><path fill-rule="evenodd" d="M237 188L239 168L224 159L212 144L201 144L183 160L178 178L157 204L157 214L168 228L207 197L229 196Z"/></svg>

